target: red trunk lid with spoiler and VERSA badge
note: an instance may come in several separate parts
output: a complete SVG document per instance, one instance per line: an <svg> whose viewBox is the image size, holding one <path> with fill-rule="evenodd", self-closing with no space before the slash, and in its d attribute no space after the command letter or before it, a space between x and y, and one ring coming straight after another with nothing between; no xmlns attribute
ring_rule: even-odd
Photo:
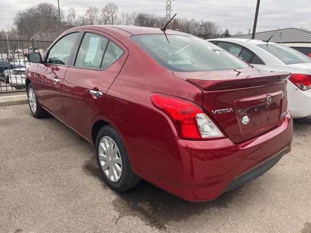
<svg viewBox="0 0 311 233"><path fill-rule="evenodd" d="M287 111L287 72L250 68L173 74L202 89L202 107L233 143L275 129Z"/></svg>

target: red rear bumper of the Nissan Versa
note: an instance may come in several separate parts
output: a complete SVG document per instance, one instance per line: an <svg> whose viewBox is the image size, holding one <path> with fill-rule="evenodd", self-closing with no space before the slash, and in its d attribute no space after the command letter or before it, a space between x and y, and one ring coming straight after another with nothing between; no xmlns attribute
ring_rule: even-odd
<svg viewBox="0 0 311 233"><path fill-rule="evenodd" d="M138 141L129 143L129 138L126 144L138 176L184 200L205 201L270 169L291 150L292 138L293 119L288 113L276 129L240 144L228 138L176 138L163 149Z"/></svg>

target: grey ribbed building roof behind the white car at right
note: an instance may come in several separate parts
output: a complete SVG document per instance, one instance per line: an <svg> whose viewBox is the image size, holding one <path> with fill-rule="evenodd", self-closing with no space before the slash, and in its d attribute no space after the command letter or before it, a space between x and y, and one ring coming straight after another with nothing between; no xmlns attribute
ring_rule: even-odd
<svg viewBox="0 0 311 233"><path fill-rule="evenodd" d="M311 43L311 32L297 29L297 28L284 28L272 30L272 31L266 31L266 32L260 32L255 33L255 39L256 40L268 40L270 36L275 33L275 35L271 38L271 42L276 43ZM234 35L230 38L245 38L245 39L251 39L252 34L244 34L244 35Z"/></svg>

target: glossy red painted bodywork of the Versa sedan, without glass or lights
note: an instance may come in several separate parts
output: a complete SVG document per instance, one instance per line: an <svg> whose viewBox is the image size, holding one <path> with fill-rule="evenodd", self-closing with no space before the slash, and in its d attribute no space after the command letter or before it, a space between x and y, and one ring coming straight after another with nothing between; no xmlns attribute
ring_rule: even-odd
<svg viewBox="0 0 311 233"><path fill-rule="evenodd" d="M245 70L173 74L130 38L132 34L161 33L159 29L82 26L68 32L72 31L102 34L119 45L124 54L106 70L32 65L27 78L34 83L40 103L91 143L94 143L92 127L98 120L111 124L121 134L132 168L142 179L185 200L212 200L235 178L277 153L291 150L293 122L290 113L282 117L277 115L266 124L260 114L252 112L250 120L261 122L261 125L259 128L242 128L241 112L238 111L261 107L264 97L269 94L272 104L277 104L261 115L286 112L287 99L280 98L280 93L285 91L284 82L259 82L259 86L211 90L187 81L194 79L200 83L202 76L221 80L237 74L260 76L262 73L264 79L269 72L249 67ZM184 34L169 30L167 33ZM52 74L62 79L60 90L51 86ZM213 82L213 87L225 85L219 83ZM103 97L91 96L89 90L93 88L103 92ZM225 138L180 139L171 118L151 102L150 95L154 92L183 98L200 106L225 132ZM222 108L234 110L214 116L212 110Z"/></svg>

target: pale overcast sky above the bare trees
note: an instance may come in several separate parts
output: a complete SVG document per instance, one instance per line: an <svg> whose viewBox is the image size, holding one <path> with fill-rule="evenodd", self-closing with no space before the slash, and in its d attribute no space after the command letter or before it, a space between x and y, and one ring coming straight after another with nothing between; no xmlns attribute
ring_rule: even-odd
<svg viewBox="0 0 311 233"><path fill-rule="evenodd" d="M26 9L42 0L1 0L0 29L13 24L17 11ZM45 0L57 6L57 0ZM165 17L166 0L59 0L65 14L74 7L83 14L87 6L102 8L108 2L119 6L120 11L145 12ZM83 4L79 4L82 2ZM177 17L204 19L217 23L231 34L248 33L253 28L257 0L172 0L172 13ZM261 0L257 32L278 28L307 28L311 30L310 0Z"/></svg>

